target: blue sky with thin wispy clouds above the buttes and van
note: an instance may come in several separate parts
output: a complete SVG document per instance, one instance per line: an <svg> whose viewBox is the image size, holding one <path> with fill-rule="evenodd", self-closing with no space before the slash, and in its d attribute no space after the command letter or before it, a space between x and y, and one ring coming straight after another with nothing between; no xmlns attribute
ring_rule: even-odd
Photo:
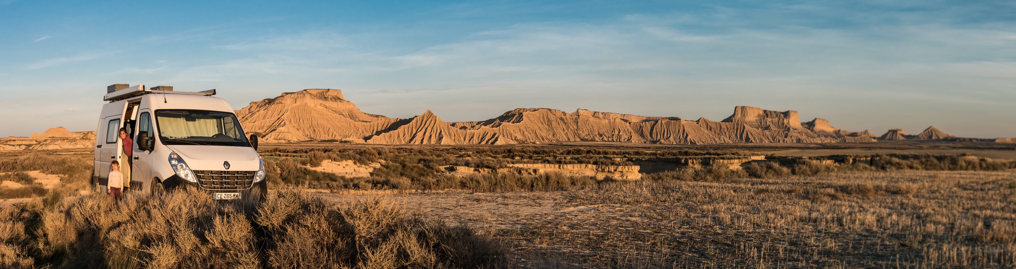
<svg viewBox="0 0 1016 269"><path fill-rule="evenodd" d="M234 109L342 89L366 113L515 108L1016 137L1012 1L0 0L0 137L96 129L106 86Z"/></svg>

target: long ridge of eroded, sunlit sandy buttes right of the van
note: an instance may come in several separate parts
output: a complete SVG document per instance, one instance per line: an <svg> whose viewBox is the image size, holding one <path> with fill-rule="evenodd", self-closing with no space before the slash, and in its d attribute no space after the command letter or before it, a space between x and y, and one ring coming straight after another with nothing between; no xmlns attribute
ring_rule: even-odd
<svg viewBox="0 0 1016 269"><path fill-rule="evenodd" d="M237 111L248 133L265 142L345 140L369 144L523 144L604 141L658 144L876 142L868 130L836 129L824 119L801 122L798 112L737 107L714 122L705 118L644 117L577 110L516 109L480 122L448 123L432 112L410 119L363 113L338 89L283 92ZM894 129L895 130L895 129ZM934 127L907 137L890 130L883 139L952 137Z"/></svg>

